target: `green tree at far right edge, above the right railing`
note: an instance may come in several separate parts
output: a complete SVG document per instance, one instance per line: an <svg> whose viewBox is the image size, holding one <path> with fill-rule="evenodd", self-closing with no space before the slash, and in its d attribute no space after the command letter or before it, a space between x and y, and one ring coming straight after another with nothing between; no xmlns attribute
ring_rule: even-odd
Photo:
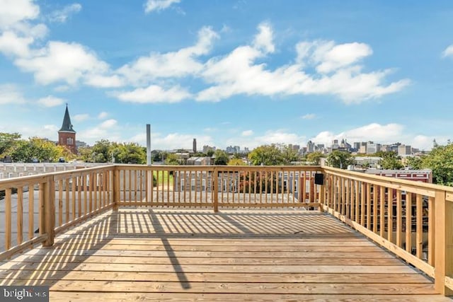
<svg viewBox="0 0 453 302"><path fill-rule="evenodd" d="M423 168L432 170L432 180L438 185L453 186L453 144L437 146L423 158Z"/></svg>

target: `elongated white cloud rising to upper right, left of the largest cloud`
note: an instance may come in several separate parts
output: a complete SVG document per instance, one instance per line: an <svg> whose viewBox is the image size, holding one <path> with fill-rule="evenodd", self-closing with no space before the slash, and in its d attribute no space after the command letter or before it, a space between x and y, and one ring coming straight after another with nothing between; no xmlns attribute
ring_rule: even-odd
<svg viewBox="0 0 453 302"><path fill-rule="evenodd" d="M214 40L218 37L212 28L204 27L198 31L195 45L177 52L152 52L147 57L140 57L131 64L125 64L117 72L134 84L149 84L153 79L197 74L202 71L203 64L196 58L210 52Z"/></svg>

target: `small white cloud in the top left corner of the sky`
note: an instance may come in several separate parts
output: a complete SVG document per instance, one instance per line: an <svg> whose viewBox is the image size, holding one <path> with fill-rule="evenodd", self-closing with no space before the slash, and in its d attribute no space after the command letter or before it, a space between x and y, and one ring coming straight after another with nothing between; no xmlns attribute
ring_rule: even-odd
<svg viewBox="0 0 453 302"><path fill-rule="evenodd" d="M0 28L8 28L16 23L33 20L40 14L40 8L29 0L0 0Z"/></svg>

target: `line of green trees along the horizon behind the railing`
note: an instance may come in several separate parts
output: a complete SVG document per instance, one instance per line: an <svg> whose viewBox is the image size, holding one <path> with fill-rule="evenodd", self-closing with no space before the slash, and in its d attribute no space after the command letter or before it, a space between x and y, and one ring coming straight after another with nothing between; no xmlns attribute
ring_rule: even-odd
<svg viewBox="0 0 453 302"><path fill-rule="evenodd" d="M180 152L186 152L180 150ZM79 147L78 154L71 153L66 147L58 146L54 142L39 137L22 139L18 133L0 132L0 158L9 156L15 162L48 161L55 162L59 158L67 161L80 160L92 163L134 163L144 164L147 160L146 148L136 143L117 143L101 139L93 146ZM175 153L166 151L152 151L152 160L166 165L185 164ZM258 146L247 155L228 154L223 150L210 150L207 153L194 153L191 156L210 157L214 165L291 165L309 164L319 165L323 153L316 151L300 156L291 146L271 144ZM379 151L373 156L382 158L380 165L384 169L401 169L404 167L401 157L393 151ZM453 185L453 144L436 146L430 153L420 157L406 158L406 165L418 170L429 168L432 170L433 182L440 185ZM326 157L326 164L335 168L348 168L355 165L355 158L351 153L334 150ZM364 164L367 166L367 163ZM366 168L366 167L365 167Z"/></svg>

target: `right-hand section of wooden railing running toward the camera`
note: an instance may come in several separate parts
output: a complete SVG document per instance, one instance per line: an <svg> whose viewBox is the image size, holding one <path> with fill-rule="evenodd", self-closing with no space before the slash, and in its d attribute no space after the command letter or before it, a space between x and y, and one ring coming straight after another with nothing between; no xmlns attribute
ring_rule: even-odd
<svg viewBox="0 0 453 302"><path fill-rule="evenodd" d="M324 168L328 213L453 294L453 188Z"/></svg>

